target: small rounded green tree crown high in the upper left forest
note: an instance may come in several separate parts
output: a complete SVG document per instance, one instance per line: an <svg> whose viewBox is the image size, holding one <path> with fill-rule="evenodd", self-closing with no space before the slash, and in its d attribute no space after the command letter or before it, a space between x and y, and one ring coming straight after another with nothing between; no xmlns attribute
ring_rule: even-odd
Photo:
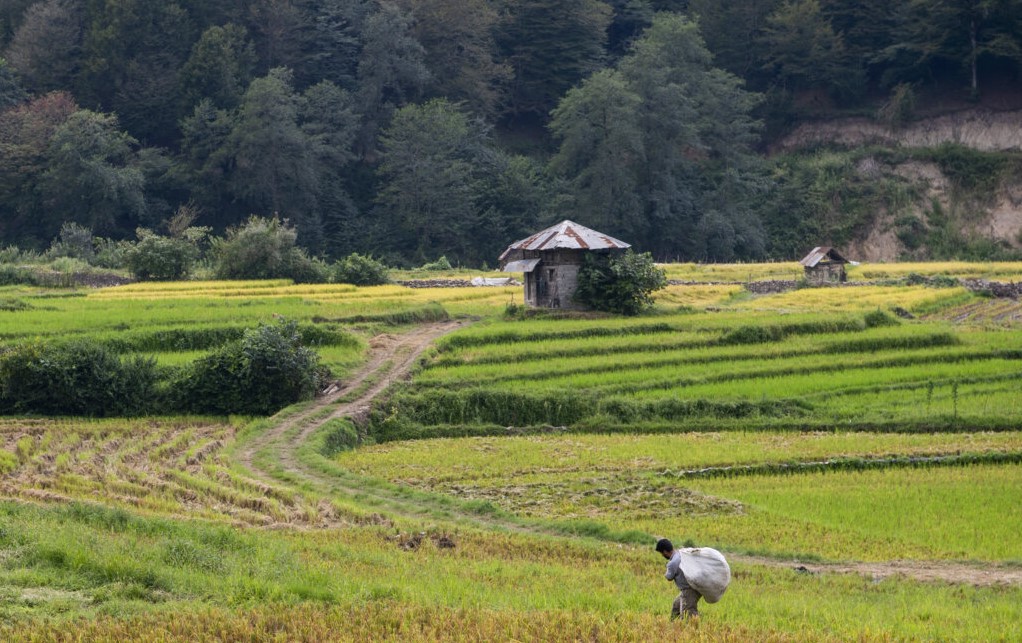
<svg viewBox="0 0 1022 643"><path fill-rule="evenodd" d="M185 111L202 98L218 107L236 107L256 68L256 48L238 25L202 32L181 68L180 96Z"/></svg>

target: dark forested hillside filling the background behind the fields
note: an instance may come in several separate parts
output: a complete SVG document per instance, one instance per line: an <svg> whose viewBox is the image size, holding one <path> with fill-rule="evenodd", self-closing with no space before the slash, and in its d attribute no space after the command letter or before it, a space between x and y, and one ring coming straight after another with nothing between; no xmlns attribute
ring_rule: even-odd
<svg viewBox="0 0 1022 643"><path fill-rule="evenodd" d="M0 56L4 244L185 206L394 265L493 265L564 218L659 259L1019 246L983 232L1017 148L768 152L810 119L1017 107L1022 0L0 0Z"/></svg>

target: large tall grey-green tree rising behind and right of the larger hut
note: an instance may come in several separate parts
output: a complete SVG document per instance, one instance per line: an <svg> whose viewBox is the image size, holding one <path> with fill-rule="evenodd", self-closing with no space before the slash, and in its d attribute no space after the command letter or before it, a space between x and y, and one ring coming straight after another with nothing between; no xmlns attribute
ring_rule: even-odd
<svg viewBox="0 0 1022 643"><path fill-rule="evenodd" d="M694 22L661 13L617 72L561 102L552 169L572 212L659 256L756 257L764 239L753 211L763 184L751 148L755 104L712 66Z"/></svg>

